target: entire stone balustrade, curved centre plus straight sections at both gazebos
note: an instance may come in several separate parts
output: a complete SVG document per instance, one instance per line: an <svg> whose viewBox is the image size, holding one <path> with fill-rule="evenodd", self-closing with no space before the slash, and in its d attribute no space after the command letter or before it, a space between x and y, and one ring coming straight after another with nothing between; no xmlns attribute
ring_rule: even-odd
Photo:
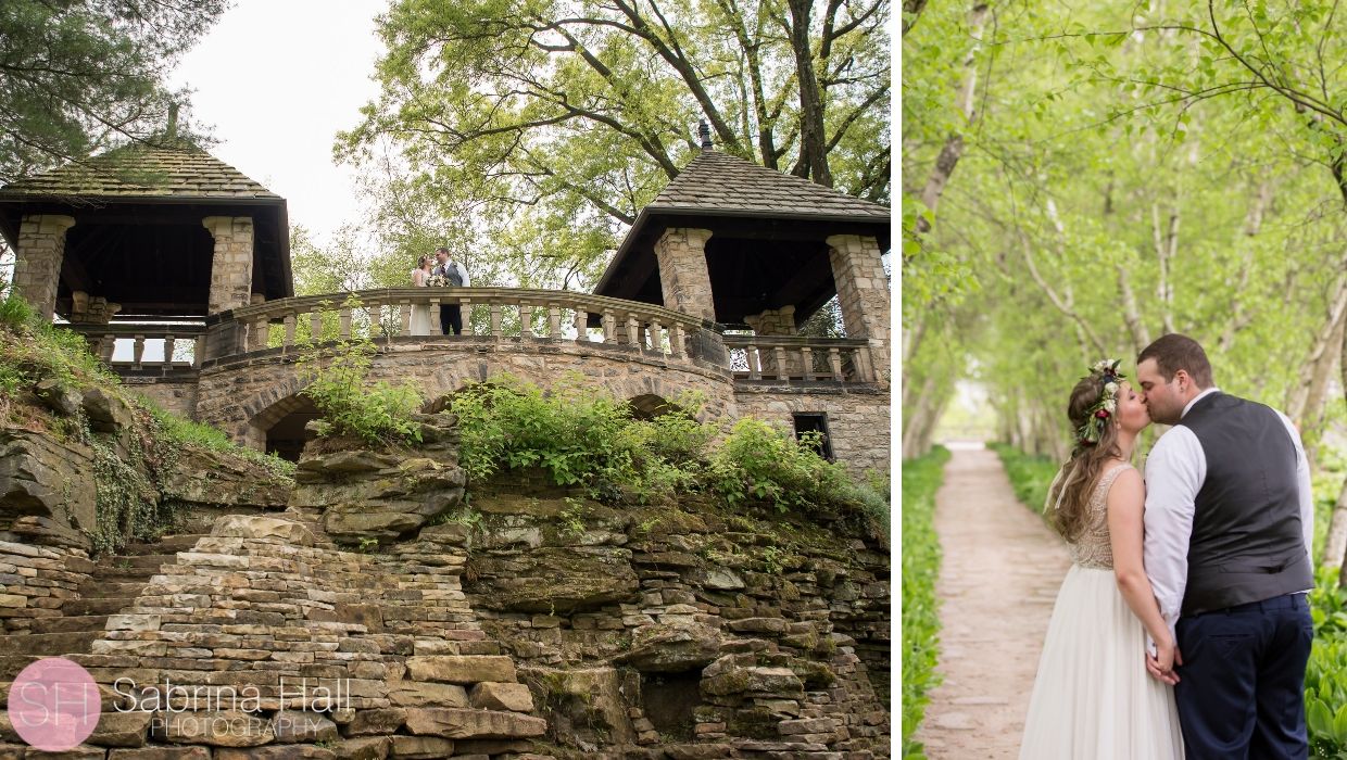
<svg viewBox="0 0 1347 760"><path fill-rule="evenodd" d="M440 331L440 305L458 305L463 335ZM428 334L414 335L412 308L427 307ZM571 291L519 288L381 288L298 296L213 315L205 326L70 324L94 351L127 377L172 374L228 363L253 352L288 354L313 338L346 340L443 342L465 344L524 342L539 346L628 347L671 362L704 362L734 371L735 381L772 383L874 383L870 343L847 338L726 334L722 326L660 305ZM113 355L119 340L132 355ZM163 359L145 360L145 344L162 342ZM183 342L190 362L171 362ZM152 354L154 351L151 351ZM264 354L265 355L265 354Z"/></svg>

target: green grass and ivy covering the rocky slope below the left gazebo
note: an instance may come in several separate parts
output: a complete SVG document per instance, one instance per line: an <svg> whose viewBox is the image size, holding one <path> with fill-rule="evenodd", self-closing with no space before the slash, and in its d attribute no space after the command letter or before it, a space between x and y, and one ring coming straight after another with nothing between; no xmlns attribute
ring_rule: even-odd
<svg viewBox="0 0 1347 760"><path fill-rule="evenodd" d="M35 394L44 381L69 391L101 389L125 404L132 424L117 433L98 433L82 409L54 413ZM0 428L89 448L96 486L90 539L98 554L176 527L179 502L168 483L186 449L241 459L277 479L295 472L288 461L238 447L217 428L185 420L128 390L82 336L46 323L13 295L0 300Z"/></svg>

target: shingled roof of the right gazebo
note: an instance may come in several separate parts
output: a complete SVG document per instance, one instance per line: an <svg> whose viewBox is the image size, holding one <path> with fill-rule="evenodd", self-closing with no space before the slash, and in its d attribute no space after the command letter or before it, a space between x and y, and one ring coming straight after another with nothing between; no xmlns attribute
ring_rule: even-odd
<svg viewBox="0 0 1347 760"><path fill-rule="evenodd" d="M785 175L719 151L702 151L674 178L649 213L886 222L888 206Z"/></svg>

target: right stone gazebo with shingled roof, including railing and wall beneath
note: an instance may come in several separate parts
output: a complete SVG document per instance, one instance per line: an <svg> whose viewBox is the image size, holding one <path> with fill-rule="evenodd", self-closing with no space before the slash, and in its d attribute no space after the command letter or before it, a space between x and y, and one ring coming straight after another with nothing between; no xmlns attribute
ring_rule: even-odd
<svg viewBox="0 0 1347 760"><path fill-rule="evenodd" d="M740 416L822 432L845 459L884 469L889 222L885 206L714 151L703 132L702 153L641 210L594 292L715 323L703 335L735 354ZM843 373L847 342L799 336L834 296L865 347L849 363L869 366ZM869 382L828 382L843 374Z"/></svg>

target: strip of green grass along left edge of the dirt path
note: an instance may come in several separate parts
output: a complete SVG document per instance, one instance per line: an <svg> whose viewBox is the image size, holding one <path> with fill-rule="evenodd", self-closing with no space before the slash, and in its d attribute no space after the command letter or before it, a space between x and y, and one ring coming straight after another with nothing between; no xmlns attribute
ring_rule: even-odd
<svg viewBox="0 0 1347 760"><path fill-rule="evenodd" d="M935 492L950 452L936 447L902 463L902 757L925 757L912 734L921 725L936 685L935 663L940 619L935 581L940 572L940 542L935 534Z"/></svg>

